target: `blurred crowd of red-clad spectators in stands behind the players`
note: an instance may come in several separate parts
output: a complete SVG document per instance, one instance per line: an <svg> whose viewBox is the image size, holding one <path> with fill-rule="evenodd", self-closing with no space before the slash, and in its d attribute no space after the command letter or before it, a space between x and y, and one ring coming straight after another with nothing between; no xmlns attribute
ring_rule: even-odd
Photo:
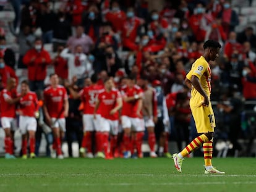
<svg viewBox="0 0 256 192"><path fill-rule="evenodd" d="M184 79L203 42L217 40L223 47L211 63L211 101L215 138L224 141L217 149L255 156L255 6L253 0L1 0L0 86L9 77L28 79L40 98L52 72L77 90L93 73L101 85L113 77L117 88L129 75L149 85L159 80L169 102L169 140L181 148L195 134ZM69 100L70 143L80 140L82 120L79 101Z"/></svg>

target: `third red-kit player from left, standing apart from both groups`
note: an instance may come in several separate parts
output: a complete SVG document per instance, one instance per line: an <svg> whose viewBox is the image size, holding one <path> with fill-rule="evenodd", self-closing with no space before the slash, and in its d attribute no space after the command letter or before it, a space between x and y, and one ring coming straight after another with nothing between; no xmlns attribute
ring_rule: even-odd
<svg viewBox="0 0 256 192"><path fill-rule="evenodd" d="M50 86L45 89L44 95L44 112L45 118L53 129L53 146L56 149L58 159L63 159L61 151L61 138L66 131L66 119L69 113L69 101L67 100L67 91L64 86L59 85L57 74L50 75ZM53 151L53 150L52 150ZM52 157L55 157L52 154Z"/></svg>

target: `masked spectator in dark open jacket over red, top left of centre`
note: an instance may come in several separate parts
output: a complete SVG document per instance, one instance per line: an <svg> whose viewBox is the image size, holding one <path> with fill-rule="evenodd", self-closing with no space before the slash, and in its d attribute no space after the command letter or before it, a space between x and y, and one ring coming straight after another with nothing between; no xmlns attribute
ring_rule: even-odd
<svg viewBox="0 0 256 192"><path fill-rule="evenodd" d="M85 34L90 36L94 43L100 36L101 17L98 7L92 5L88 9L88 14L83 18L83 26L85 26Z"/></svg>

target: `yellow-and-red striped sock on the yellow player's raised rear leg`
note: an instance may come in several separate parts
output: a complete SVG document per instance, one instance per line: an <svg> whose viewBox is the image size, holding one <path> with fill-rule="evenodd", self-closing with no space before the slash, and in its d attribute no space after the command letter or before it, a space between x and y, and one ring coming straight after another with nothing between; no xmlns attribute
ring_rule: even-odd
<svg viewBox="0 0 256 192"><path fill-rule="evenodd" d="M186 157L191 152L195 151L195 149L199 148L203 143L209 141L208 137L205 134L202 134L195 138L191 143L189 143L186 148L181 151L182 157Z"/></svg>

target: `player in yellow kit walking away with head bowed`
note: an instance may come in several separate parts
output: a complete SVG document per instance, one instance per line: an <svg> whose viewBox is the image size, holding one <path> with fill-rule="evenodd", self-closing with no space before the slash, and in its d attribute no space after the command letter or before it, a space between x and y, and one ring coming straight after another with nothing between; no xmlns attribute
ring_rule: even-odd
<svg viewBox="0 0 256 192"><path fill-rule="evenodd" d="M181 152L173 154L174 165L181 172L182 161L190 152L203 144L203 156L205 159L205 174L219 173L211 165L213 155L213 133L215 128L215 117L210 102L211 94L211 69L208 62L215 61L218 57L221 45L217 41L208 40L203 44L204 53L191 67L187 73L186 84L190 84L191 98L190 108L195 119L195 127L199 136L191 141Z"/></svg>

